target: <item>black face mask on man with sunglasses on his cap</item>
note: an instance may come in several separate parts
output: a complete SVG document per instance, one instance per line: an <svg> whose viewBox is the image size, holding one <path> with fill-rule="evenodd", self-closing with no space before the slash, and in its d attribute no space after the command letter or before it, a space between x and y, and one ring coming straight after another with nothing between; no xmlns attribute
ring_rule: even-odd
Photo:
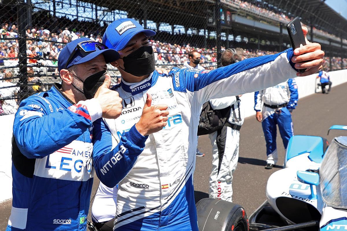
<svg viewBox="0 0 347 231"><path fill-rule="evenodd" d="M72 72L71 72L72 73ZM72 73L75 75L74 73ZM83 82L83 91L78 89L75 85L74 88L76 88L79 92L83 93L87 99L92 99L95 96L96 91L98 91L99 87L104 83L106 78L106 71L99 71L95 74L90 75L88 78L86 78L84 81L82 81L80 78L77 77L77 79L81 80Z"/></svg>

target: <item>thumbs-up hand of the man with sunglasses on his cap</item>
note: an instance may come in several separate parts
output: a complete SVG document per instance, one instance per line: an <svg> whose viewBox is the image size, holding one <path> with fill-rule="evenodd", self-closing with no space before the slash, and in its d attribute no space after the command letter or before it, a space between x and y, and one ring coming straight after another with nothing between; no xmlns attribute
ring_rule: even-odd
<svg viewBox="0 0 347 231"><path fill-rule="evenodd" d="M94 98L99 101L102 109L102 117L115 119L122 112L122 99L117 91L110 90L111 76L106 74L104 83L96 91Z"/></svg>

